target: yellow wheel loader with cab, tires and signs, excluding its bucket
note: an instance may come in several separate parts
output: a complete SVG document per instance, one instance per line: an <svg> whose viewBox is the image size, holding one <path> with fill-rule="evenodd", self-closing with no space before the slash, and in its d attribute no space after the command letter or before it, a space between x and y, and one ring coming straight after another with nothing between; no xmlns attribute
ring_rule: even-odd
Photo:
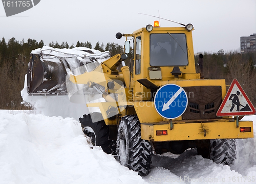
<svg viewBox="0 0 256 184"><path fill-rule="evenodd" d="M139 175L150 172L152 154L181 154L188 148L229 165L236 158L235 139L253 137L252 121L239 117L255 109L244 101L239 84L227 93L225 80L203 79L196 72L193 30L192 24L161 28L156 23L132 34L117 33L116 38L126 39L123 54L91 71L80 64L80 73L70 70L63 76L70 101L89 109L79 118L84 134ZM130 52L133 59L127 60ZM238 90L236 99L229 97Z"/></svg>

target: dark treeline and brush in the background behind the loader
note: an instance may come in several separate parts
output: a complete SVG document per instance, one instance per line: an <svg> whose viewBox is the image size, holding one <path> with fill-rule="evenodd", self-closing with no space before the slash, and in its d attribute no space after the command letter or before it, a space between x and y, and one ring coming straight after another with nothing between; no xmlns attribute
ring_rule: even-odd
<svg viewBox="0 0 256 184"><path fill-rule="evenodd" d="M28 70L29 55L31 50L44 46L44 41L37 42L34 39L17 41L11 38L0 42L0 109L26 109L22 102L20 91L24 88L25 74ZM94 47L90 42L79 42L76 45L69 45L67 42L51 42L49 46L54 48L74 48L88 47L100 51L109 50L111 55L123 52L123 47L116 43L97 42ZM203 53L204 55L204 78L225 79L230 85L233 78L237 78L249 99L256 106L256 53L240 54L237 51L224 53L220 50L217 53ZM132 54L129 55L132 58ZM198 66L198 56L195 56L196 70L200 72ZM129 60L130 61L130 60ZM127 63L129 63L127 60Z"/></svg>

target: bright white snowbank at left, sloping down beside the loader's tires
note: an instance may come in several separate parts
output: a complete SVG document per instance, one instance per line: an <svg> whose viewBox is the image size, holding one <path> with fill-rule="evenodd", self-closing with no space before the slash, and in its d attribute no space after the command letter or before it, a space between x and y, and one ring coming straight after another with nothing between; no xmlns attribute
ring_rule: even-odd
<svg viewBox="0 0 256 184"><path fill-rule="evenodd" d="M100 147L73 118L0 111L0 183L145 183Z"/></svg>

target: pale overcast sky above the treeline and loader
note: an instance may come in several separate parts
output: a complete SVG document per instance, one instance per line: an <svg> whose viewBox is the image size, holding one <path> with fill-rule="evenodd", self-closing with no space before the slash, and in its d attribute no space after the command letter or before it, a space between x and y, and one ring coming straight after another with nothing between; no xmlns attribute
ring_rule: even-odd
<svg viewBox="0 0 256 184"><path fill-rule="evenodd" d="M192 23L194 51L240 51L240 37L256 33L255 0L41 0L25 12L6 17L0 5L0 37L21 41L89 41L93 47L117 40L117 32L129 34L153 24L159 16L183 24ZM161 27L179 24L160 20Z"/></svg>

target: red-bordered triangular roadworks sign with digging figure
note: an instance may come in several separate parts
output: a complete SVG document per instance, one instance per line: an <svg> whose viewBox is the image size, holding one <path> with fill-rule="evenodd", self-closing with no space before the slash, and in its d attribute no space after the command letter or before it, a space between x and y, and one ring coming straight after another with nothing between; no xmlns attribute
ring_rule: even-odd
<svg viewBox="0 0 256 184"><path fill-rule="evenodd" d="M244 116L256 113L251 101L236 78L232 81L217 116Z"/></svg>

